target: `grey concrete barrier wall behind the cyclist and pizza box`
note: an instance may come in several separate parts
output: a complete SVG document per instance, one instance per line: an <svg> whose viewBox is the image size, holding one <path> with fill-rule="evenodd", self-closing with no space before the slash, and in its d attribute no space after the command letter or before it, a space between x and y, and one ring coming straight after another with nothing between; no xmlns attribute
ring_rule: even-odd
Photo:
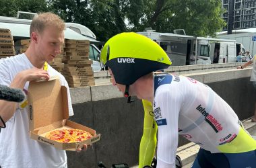
<svg viewBox="0 0 256 168"><path fill-rule="evenodd" d="M234 67L224 71L184 75L212 87L243 120L253 116L256 92L249 81L251 68L236 70ZM104 85L100 83L92 87L70 89L75 113L70 120L94 128L102 134L102 138L86 152L67 151L69 168L97 167L98 161L107 167L112 163L137 165L139 142L143 133L141 101L134 98L133 103L126 103L127 99L122 97L116 87L110 85L109 76L105 79L108 82ZM179 146L185 143L187 141L180 137Z"/></svg>

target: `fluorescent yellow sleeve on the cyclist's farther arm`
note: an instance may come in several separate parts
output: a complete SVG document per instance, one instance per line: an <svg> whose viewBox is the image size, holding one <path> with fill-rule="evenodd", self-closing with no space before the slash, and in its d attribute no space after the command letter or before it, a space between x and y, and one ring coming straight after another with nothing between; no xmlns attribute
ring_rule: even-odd
<svg viewBox="0 0 256 168"><path fill-rule="evenodd" d="M143 135L139 145L139 168L151 165L156 149L157 132L152 103L142 99L142 104L144 108L144 124Z"/></svg>

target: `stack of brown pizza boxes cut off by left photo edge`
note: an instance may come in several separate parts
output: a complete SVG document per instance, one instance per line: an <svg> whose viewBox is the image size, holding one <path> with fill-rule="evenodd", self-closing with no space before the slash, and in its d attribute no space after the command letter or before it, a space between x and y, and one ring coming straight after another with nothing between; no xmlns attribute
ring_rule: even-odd
<svg viewBox="0 0 256 168"><path fill-rule="evenodd" d="M0 28L0 58L14 55L15 48L11 31L9 29Z"/></svg>

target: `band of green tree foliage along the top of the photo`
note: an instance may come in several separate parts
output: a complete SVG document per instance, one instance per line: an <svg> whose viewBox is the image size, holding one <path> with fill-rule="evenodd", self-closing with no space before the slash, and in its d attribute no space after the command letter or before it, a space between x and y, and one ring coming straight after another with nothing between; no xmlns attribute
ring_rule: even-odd
<svg viewBox="0 0 256 168"><path fill-rule="evenodd" d="M65 22L82 24L100 41L121 32L185 29L188 35L215 36L224 27L220 0L1 0L0 15L52 11Z"/></svg>

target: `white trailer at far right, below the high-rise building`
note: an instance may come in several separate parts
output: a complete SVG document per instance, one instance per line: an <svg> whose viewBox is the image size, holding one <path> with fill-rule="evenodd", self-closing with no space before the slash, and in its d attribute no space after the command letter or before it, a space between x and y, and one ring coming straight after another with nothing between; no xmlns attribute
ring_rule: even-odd
<svg viewBox="0 0 256 168"><path fill-rule="evenodd" d="M218 32L217 36L218 38L241 42L244 44L245 50L248 50L252 56L256 54L256 28L232 30L232 34L227 34L227 31Z"/></svg>

